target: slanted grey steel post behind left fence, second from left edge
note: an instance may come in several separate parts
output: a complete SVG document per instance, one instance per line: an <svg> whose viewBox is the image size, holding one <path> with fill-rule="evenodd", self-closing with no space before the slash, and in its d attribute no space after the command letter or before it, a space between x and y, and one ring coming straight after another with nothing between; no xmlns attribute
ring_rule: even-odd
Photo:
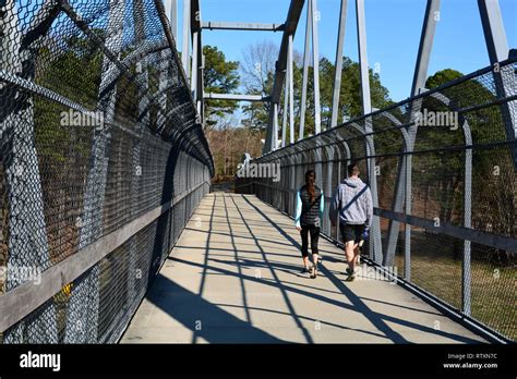
<svg viewBox="0 0 517 379"><path fill-rule="evenodd" d="M133 12L135 15L143 14L142 0L135 1ZM106 47L119 56L122 48L123 17L125 1L110 0L108 15L108 33ZM135 32L136 38L143 30ZM111 83L111 77L105 73L118 72L116 64L108 58L104 58L103 73L100 77L99 96ZM84 195L84 211L79 223L81 235L79 248L83 248L103 232L103 213L106 195L106 182L108 174L109 126L115 118L116 89L109 90L104 98L99 98L98 109L105 114L105 124L100 131L96 131L93 140L92 163L88 172L86 190ZM98 314L99 314L99 265L95 265L89 272L81 277L75 283L72 295L67 307L67 326L64 343L96 343L98 342Z"/></svg>

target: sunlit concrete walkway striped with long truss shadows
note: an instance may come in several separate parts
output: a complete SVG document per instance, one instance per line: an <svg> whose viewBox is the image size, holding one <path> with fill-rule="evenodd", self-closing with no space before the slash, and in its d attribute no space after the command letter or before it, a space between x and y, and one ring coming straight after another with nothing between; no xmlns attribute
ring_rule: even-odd
<svg viewBox="0 0 517 379"><path fill-rule="evenodd" d="M293 222L252 195L213 193L190 220L122 343L474 343L484 341L402 288L345 282L320 240L301 274Z"/></svg>

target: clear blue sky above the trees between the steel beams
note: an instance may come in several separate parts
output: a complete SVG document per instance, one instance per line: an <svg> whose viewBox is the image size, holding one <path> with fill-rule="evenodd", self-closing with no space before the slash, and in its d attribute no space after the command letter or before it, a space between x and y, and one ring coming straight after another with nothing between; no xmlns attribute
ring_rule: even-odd
<svg viewBox="0 0 517 379"><path fill-rule="evenodd" d="M282 23L289 0L201 0L203 21ZM354 0L348 1L345 56L358 59ZM425 0L365 0L369 65L380 68L382 83L392 99L409 96L425 10ZM334 62L339 0L318 0L321 12L320 56ZM500 0L509 48L517 48L517 0ZM306 7L306 5L305 5ZM179 0L179 12L182 0ZM180 13L181 14L181 13ZM181 17L180 17L181 19ZM179 40L181 40L181 20ZM294 49L303 52L305 10L294 37ZM251 44L273 40L281 33L205 30L203 42L215 45L227 59L241 60ZM181 46L181 45L180 45ZM442 0L429 74L455 69L464 74L489 64L477 0Z"/></svg>

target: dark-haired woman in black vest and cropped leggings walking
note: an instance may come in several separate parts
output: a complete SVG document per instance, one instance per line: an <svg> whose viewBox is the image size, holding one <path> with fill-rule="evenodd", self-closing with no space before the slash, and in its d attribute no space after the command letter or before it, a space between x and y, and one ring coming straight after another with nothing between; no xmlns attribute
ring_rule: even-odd
<svg viewBox="0 0 517 379"><path fill-rule="evenodd" d="M296 225L302 239L302 273L317 277L317 240L320 239L320 223L323 217L324 197L322 190L314 184L316 173L314 170L305 172L305 185L297 192ZM312 268L309 268L309 234L311 235Z"/></svg>

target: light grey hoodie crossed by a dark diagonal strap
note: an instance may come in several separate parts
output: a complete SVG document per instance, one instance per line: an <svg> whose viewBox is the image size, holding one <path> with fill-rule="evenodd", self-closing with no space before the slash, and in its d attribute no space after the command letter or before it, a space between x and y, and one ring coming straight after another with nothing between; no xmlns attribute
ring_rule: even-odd
<svg viewBox="0 0 517 379"><path fill-rule="evenodd" d="M339 211L339 222L349 224L372 225L372 193L359 178L345 179L336 187L330 201L329 217L334 222Z"/></svg>

